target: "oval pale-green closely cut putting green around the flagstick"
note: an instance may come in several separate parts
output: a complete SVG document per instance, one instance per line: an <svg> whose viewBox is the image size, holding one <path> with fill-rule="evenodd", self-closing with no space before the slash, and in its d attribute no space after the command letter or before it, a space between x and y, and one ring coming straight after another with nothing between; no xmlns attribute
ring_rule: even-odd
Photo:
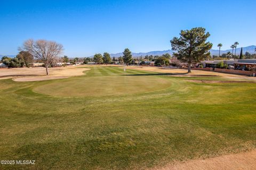
<svg viewBox="0 0 256 170"><path fill-rule="evenodd" d="M34 88L35 92L58 97L126 95L166 89L170 81L150 76L81 77L58 80Z"/></svg>

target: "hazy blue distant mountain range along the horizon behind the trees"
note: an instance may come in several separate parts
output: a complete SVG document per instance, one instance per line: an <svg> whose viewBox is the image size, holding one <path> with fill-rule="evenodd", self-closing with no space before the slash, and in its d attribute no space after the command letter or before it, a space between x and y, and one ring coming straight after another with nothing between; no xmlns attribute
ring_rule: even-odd
<svg viewBox="0 0 256 170"><path fill-rule="evenodd" d="M243 47L243 54L245 54L245 52L249 52L250 54L256 54L255 52L255 48L256 46L248 46L248 47ZM241 51L241 47L236 49L236 55L239 55ZM163 54L169 53L169 54L173 54L173 50L168 49L168 50L163 50L163 51L153 51L153 52L148 52L148 53L132 53L133 57L145 57L146 55L158 55L161 56ZM219 50L218 49L211 49L210 50L211 55L219 55ZM231 52L232 53L232 49L227 49L227 50L220 50L220 55L221 54L226 54L227 52ZM235 54L235 49L234 49L234 54ZM0 58L2 58L4 55L0 55ZM15 57L16 55L6 55L8 57ZM110 54L111 57L120 57L123 56L123 53L115 53L115 54ZM93 56L91 56L93 57Z"/></svg>

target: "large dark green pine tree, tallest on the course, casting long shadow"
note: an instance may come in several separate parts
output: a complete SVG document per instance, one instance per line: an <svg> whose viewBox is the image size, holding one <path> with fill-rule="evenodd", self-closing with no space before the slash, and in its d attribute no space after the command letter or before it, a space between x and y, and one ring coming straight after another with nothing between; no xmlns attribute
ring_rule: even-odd
<svg viewBox="0 0 256 170"><path fill-rule="evenodd" d="M191 72L193 62L202 61L210 55L212 43L206 42L208 37L210 33L205 32L205 28L197 27L186 31L181 30L180 38L174 37L171 40L172 50L177 50L174 56L188 63L188 73Z"/></svg>

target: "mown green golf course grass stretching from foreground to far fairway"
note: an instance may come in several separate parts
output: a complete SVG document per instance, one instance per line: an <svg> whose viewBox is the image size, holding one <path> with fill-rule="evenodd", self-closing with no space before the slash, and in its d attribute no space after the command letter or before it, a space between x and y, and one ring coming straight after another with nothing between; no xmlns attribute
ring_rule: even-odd
<svg viewBox="0 0 256 170"><path fill-rule="evenodd" d="M62 80L0 81L0 158L36 160L0 169L145 169L256 147L255 83L126 70L134 88L125 88L123 69L90 69ZM91 91L105 87L113 94Z"/></svg>

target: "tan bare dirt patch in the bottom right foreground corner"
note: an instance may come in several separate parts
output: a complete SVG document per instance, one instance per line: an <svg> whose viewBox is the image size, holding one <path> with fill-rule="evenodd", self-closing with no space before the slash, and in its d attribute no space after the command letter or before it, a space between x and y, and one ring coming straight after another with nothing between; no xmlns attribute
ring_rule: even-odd
<svg viewBox="0 0 256 170"><path fill-rule="evenodd" d="M154 170L253 170L256 169L256 150L209 159L189 160L166 165ZM152 169L153 170L153 169Z"/></svg>

